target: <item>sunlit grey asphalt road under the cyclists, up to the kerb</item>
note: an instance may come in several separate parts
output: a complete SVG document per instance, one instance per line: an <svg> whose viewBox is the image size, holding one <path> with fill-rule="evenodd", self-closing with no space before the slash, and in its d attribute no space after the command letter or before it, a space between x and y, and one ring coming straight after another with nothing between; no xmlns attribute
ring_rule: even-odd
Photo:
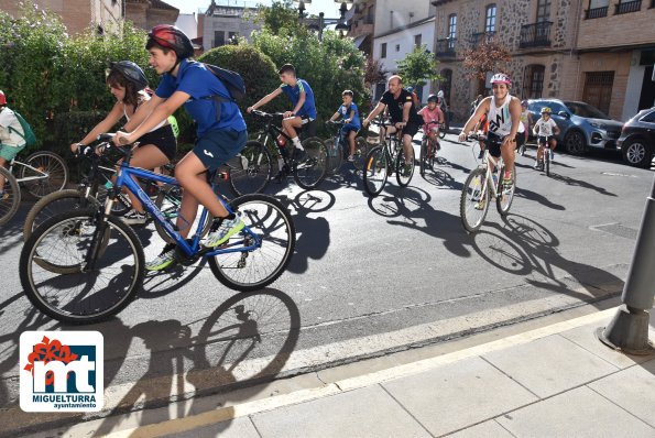
<svg viewBox="0 0 655 438"><path fill-rule="evenodd" d="M455 140L444 142L445 161L436 172L422 178L417 168L407 188L392 178L374 199L348 169L308 193L292 179L273 183L269 193L290 207L297 245L288 272L271 288L239 295L221 286L207 264L179 267L149 275L139 298L117 318L87 327L63 327L23 296L20 230L29 206L22 206L0 230L0 408L9 408L0 417L15 414L18 339L25 330L101 331L109 407L118 412L616 295L652 171L602 153L557 154L548 178L532 169L535 151L528 150L517 158L511 215L503 220L492 206L481 231L470 236L460 222L459 197L478 150ZM153 229L139 234L146 258L161 250Z"/></svg>

